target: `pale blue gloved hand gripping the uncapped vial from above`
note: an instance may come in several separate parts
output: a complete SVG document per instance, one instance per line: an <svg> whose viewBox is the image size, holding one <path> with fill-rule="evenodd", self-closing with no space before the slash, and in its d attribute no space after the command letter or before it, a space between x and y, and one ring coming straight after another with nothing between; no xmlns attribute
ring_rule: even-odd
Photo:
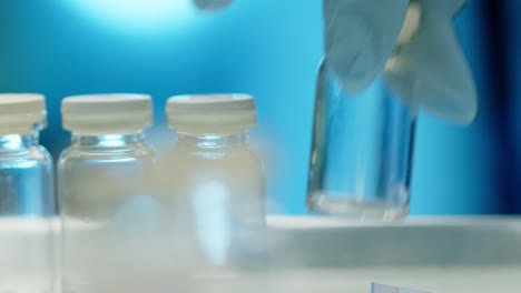
<svg viewBox="0 0 521 293"><path fill-rule="evenodd" d="M194 1L205 10L232 2ZM384 73L406 104L449 121L472 123L476 90L453 27L465 0L323 1L325 57L346 91L361 92ZM394 55L397 46L403 48ZM412 72L406 78L393 75L392 67L404 63ZM414 91L400 91L403 88Z"/></svg>

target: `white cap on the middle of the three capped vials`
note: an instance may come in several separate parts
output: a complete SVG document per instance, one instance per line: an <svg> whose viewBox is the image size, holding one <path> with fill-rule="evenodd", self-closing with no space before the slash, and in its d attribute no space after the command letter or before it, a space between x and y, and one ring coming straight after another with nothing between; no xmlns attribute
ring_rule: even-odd
<svg viewBox="0 0 521 293"><path fill-rule="evenodd" d="M63 129L82 134L128 134L153 122L148 94L110 93L67 97L61 101Z"/></svg>

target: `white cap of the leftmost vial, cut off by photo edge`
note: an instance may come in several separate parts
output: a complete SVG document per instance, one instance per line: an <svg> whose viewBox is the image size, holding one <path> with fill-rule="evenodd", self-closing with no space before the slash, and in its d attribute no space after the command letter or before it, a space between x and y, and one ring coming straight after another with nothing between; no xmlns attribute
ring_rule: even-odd
<svg viewBox="0 0 521 293"><path fill-rule="evenodd" d="M46 98L42 94L0 93L0 133L31 133L46 125Z"/></svg>

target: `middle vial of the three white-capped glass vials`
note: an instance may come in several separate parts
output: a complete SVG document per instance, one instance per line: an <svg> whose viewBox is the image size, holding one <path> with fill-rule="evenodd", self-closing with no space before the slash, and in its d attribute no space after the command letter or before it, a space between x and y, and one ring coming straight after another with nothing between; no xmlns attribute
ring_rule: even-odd
<svg viewBox="0 0 521 293"><path fill-rule="evenodd" d="M164 222L160 200L146 189L154 163L144 134L153 121L151 99L69 97L61 113L72 132L58 163L62 291L147 292Z"/></svg>

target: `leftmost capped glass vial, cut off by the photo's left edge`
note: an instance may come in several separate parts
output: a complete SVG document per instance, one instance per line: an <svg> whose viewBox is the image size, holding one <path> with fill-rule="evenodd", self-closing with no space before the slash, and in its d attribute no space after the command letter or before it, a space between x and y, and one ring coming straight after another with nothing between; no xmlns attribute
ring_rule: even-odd
<svg viewBox="0 0 521 293"><path fill-rule="evenodd" d="M41 94L0 94L0 292L53 290L52 159Z"/></svg>

